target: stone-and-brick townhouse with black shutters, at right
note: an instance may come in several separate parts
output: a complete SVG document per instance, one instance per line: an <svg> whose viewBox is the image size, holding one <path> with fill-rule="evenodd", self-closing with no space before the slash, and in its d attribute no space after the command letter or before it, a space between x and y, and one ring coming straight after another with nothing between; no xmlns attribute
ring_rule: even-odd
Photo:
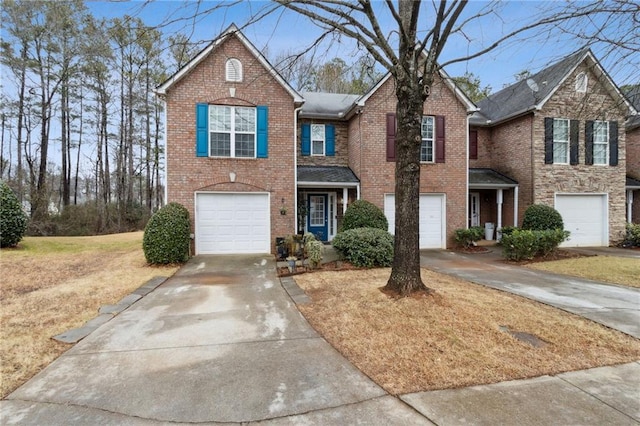
<svg viewBox="0 0 640 426"><path fill-rule="evenodd" d="M603 246L622 239L624 123L635 110L590 50L502 89L478 107L470 120L470 145L477 144L470 167L489 168L505 182L517 182L517 206L513 215L505 210L507 222L519 223L529 205L541 203L562 214L571 232L566 246ZM637 164L637 157L633 161ZM486 191L478 193L480 216L488 220L494 200ZM482 213L485 208L488 216Z"/></svg>

